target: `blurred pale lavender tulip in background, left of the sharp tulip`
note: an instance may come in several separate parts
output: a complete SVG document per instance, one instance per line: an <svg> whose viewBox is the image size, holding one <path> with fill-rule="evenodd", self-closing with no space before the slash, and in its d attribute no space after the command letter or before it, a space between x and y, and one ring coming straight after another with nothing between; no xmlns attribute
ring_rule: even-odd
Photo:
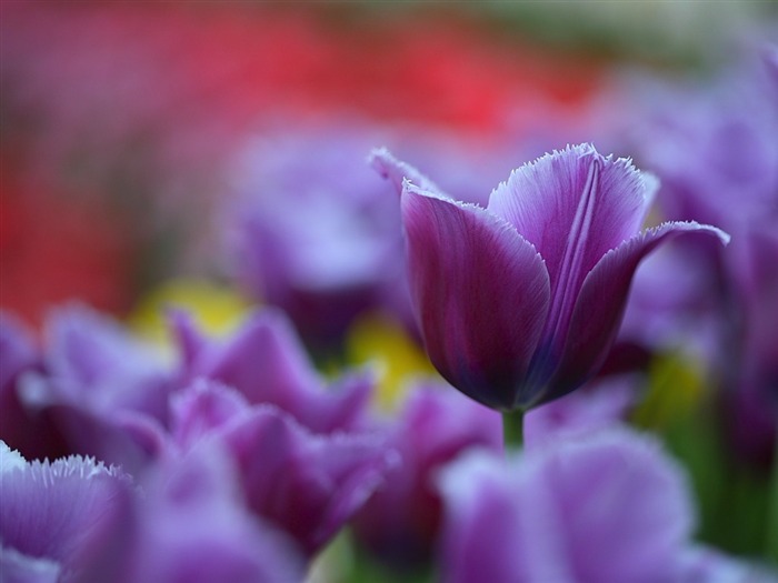
<svg viewBox="0 0 778 583"><path fill-rule="evenodd" d="M266 132L235 172L235 271L316 344L337 340L402 273L397 205L363 164L375 127ZM401 291L401 289L400 289Z"/></svg>

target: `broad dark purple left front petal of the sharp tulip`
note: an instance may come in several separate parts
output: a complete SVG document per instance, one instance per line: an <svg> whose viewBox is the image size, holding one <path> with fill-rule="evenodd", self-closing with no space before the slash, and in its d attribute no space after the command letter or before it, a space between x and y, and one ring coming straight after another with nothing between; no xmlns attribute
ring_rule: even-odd
<svg viewBox="0 0 778 583"><path fill-rule="evenodd" d="M411 294L430 360L476 401L512 409L548 312L542 259L479 207L407 181L401 205Z"/></svg>

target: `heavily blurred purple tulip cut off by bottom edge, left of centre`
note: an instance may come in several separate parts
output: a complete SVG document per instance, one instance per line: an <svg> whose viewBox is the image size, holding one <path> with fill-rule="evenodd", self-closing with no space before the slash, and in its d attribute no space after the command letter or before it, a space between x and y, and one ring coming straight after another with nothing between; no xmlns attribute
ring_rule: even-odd
<svg viewBox="0 0 778 583"><path fill-rule="evenodd" d="M80 583L302 580L299 550L249 512L236 469L218 444L158 460L133 494Z"/></svg>

